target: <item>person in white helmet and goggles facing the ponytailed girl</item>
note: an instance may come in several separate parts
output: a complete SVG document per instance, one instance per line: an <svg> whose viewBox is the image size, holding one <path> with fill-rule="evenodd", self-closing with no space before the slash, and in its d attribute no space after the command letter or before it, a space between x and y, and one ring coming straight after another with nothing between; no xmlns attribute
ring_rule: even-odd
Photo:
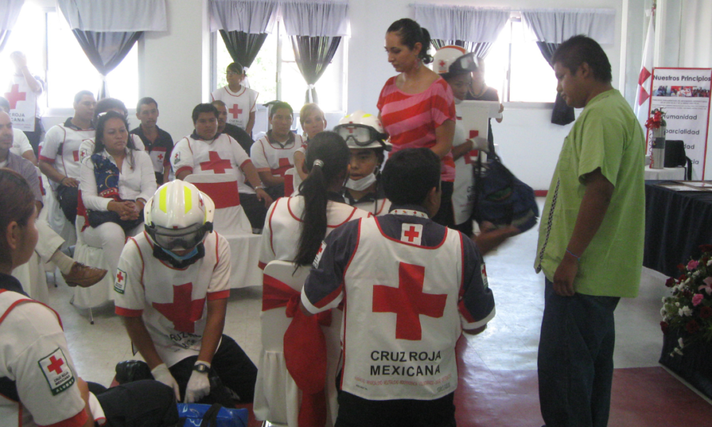
<svg viewBox="0 0 712 427"><path fill-rule="evenodd" d="M358 110L342 118L334 132L351 150L351 171L342 191L346 203L375 216L388 214L391 202L379 178L385 152L392 146L378 117Z"/></svg>

